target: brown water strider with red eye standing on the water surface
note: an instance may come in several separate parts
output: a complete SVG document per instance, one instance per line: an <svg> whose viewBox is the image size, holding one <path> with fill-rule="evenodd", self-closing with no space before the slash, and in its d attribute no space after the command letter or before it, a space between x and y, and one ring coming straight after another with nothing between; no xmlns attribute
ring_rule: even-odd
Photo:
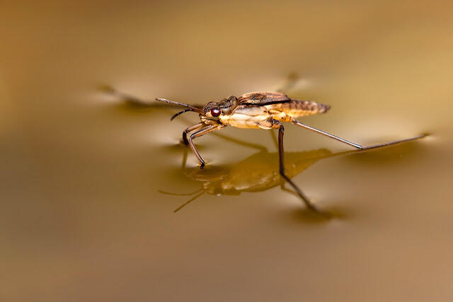
<svg viewBox="0 0 453 302"><path fill-rule="evenodd" d="M184 106L187 109L176 113L171 118L188 111L197 112L200 114L201 122L188 127L183 132L183 141L188 144L192 149L198 161L200 161L200 168L205 166L205 160L203 160L200 153L197 151L193 139L201 137L202 135L208 134L215 130L222 129L227 125L231 125L236 128L246 129L278 129L278 147L279 147L279 163L280 163L280 175L284 178L296 192L304 198L304 195L297 188L296 185L285 175L285 165L283 161L283 133L285 128L282 122L291 122L299 127L309 129L311 131L323 134L326 137L331 137L345 144L355 147L356 149L365 150L377 148L380 146L389 146L391 144L401 143L403 141L409 141L412 139L419 139L425 137L420 135L418 137L412 137L410 139L401 139L398 141L391 141L385 144L377 144L373 146L361 146L359 144L352 143L340 137L336 137L333 134L328 134L314 127L310 127L306 124L302 124L296 120L297 117L304 115L314 115L317 113L324 113L329 110L330 106L322 105L319 103L311 102L308 100L295 100L289 98L285 93L281 92L254 92L245 93L239 98L230 96L224 100L220 100L217 103L207 103L203 108L197 108L192 105L174 102L173 100L166 100L164 98L156 98L161 102L170 103L173 105Z"/></svg>

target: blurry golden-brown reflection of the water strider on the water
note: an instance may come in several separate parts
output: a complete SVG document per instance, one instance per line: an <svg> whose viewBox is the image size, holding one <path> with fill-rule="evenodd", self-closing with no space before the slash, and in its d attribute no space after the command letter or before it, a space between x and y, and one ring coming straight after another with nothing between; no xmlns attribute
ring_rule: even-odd
<svg viewBox="0 0 453 302"><path fill-rule="evenodd" d="M175 194L160 191L165 194L193 195L188 202L185 202L185 204L178 207L175 211L179 211L186 204L193 202L193 200L205 193L212 195L239 195L242 192L262 192L280 185L282 190L296 194L292 190L287 189L285 187L285 182L282 182L280 179L277 164L278 153L269 153L268 149L263 146L238 141L236 139L224 137L220 134L217 134L217 136L233 141L236 144L251 146L260 151L234 165L220 165L200 170L197 168L186 168L186 150L183 157L183 171L188 178L202 182L202 188L190 194ZM318 149L286 153L286 175L288 178L294 178L294 176L302 173L317 161L350 152L351 151L331 153L331 151L327 149ZM299 192L302 196L300 196ZM327 213L319 211L302 191L299 190L299 192L296 195L302 197L302 202L304 202L306 209L321 214L324 218L328 218L329 215Z"/></svg>

